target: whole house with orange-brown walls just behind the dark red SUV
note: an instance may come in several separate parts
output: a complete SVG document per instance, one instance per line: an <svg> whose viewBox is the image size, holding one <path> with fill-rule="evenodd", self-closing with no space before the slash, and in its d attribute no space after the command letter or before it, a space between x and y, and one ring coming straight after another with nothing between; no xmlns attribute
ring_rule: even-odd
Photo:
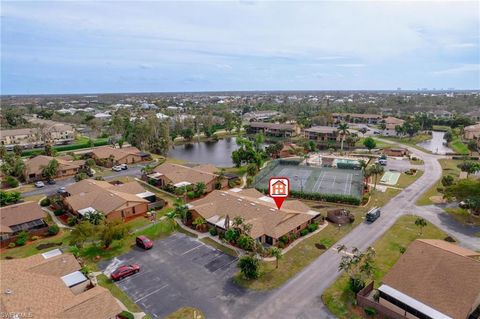
<svg viewBox="0 0 480 319"><path fill-rule="evenodd" d="M111 184L84 179L67 186L65 190L65 205L79 216L97 211L108 219L126 220L145 215L148 204L155 201L155 194L146 191L137 182Z"/></svg>

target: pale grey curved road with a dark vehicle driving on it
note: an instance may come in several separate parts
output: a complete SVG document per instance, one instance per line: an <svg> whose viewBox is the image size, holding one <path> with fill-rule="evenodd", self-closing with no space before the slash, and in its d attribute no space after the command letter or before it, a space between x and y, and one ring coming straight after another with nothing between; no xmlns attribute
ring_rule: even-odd
<svg viewBox="0 0 480 319"><path fill-rule="evenodd" d="M420 195L441 177L442 168L438 162L441 157L421 152L412 147L407 148L424 161L425 173L404 191L393 197L382 208L382 215L375 223L358 225L335 246L341 244L364 250L381 237L398 217L416 214L457 238L461 245L476 250L480 249L480 240L471 237L478 229L452 223L451 218L440 217L438 210L441 209L437 209L435 206L419 207L415 205ZM261 304L251 309L245 317L265 319L335 318L326 311L320 296L341 274L338 272L340 258L341 255L335 250L327 250L286 284L273 291Z"/></svg>

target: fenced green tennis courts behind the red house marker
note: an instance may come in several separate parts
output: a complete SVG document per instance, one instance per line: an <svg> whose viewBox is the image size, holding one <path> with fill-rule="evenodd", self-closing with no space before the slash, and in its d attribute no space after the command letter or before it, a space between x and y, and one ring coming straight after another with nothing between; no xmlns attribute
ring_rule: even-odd
<svg viewBox="0 0 480 319"><path fill-rule="evenodd" d="M257 176L255 187L268 188L272 176L288 177L290 189L305 193L340 194L360 197L363 177L360 170L273 164Z"/></svg>

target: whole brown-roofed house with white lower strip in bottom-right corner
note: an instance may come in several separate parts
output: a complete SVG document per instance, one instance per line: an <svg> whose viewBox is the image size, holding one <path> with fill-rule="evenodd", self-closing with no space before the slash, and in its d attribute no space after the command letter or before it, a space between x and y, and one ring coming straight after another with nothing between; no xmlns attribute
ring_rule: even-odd
<svg viewBox="0 0 480 319"><path fill-rule="evenodd" d="M392 318L479 318L478 257L443 240L414 241L383 278L377 310Z"/></svg>

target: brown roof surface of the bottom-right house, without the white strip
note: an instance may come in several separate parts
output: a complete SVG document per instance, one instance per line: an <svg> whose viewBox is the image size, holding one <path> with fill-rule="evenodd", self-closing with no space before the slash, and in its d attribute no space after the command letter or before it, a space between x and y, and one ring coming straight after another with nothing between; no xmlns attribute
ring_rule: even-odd
<svg viewBox="0 0 480 319"><path fill-rule="evenodd" d="M452 318L467 318L480 302L480 261L468 249L416 240L383 283Z"/></svg>

